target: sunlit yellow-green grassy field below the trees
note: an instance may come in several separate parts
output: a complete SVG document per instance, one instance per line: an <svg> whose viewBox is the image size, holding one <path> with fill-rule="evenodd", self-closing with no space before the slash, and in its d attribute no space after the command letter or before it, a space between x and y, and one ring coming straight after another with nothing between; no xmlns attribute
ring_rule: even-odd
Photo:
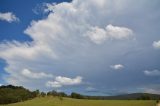
<svg viewBox="0 0 160 106"><path fill-rule="evenodd" d="M79 100L71 98L60 100L56 97L45 97L0 106L156 106L156 102L141 100Z"/></svg>

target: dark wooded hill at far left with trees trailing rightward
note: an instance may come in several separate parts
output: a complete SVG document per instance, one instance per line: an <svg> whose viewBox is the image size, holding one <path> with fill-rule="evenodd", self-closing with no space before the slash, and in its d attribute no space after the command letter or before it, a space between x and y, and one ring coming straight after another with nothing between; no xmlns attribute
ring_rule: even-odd
<svg viewBox="0 0 160 106"><path fill-rule="evenodd" d="M46 95L63 96L63 97L67 96L63 92L56 92L54 90L45 93L45 92L40 92L39 90L30 91L22 86L13 86L13 85L0 86L0 104L22 102L35 97L40 97L40 96L44 97Z"/></svg>

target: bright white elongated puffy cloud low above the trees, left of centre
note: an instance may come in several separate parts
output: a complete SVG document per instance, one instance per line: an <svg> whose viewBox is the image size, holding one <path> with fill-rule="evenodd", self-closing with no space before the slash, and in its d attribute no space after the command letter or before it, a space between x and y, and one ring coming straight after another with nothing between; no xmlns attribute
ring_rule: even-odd
<svg viewBox="0 0 160 106"><path fill-rule="evenodd" d="M55 78L55 81L48 81L46 83L47 87L54 87L54 88L59 88L65 85L78 85L82 83L82 77L77 76L76 78L68 78L68 77L62 77L62 76L57 76Z"/></svg>

